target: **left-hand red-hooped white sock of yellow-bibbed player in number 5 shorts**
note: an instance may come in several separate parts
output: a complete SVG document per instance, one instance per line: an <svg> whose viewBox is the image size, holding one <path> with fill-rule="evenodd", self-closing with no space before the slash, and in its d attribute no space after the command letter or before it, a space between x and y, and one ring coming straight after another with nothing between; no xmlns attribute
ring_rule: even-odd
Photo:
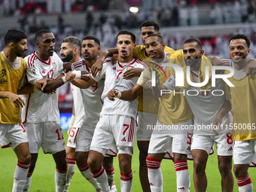
<svg viewBox="0 0 256 192"><path fill-rule="evenodd" d="M160 168L161 160L155 160L147 157L148 181L151 186L151 192L163 191L163 175Z"/></svg>

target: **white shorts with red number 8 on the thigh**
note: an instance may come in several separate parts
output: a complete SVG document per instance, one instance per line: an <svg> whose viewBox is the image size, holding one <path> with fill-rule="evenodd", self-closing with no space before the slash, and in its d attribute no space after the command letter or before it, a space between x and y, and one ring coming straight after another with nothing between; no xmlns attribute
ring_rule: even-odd
<svg viewBox="0 0 256 192"><path fill-rule="evenodd" d="M232 156L234 140L231 133L223 133L220 135L200 135L194 134L192 138L191 151L201 149L209 155L212 147L216 144L217 154L220 156Z"/></svg>

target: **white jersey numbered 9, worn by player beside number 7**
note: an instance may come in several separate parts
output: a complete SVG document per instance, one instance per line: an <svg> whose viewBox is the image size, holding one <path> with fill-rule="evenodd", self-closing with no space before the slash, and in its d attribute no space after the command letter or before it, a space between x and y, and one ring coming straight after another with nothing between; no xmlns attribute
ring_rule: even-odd
<svg viewBox="0 0 256 192"><path fill-rule="evenodd" d="M86 64L86 60L82 59L79 62L72 64L74 69L78 71L90 72L90 68ZM96 84L93 84L88 89L80 89L81 96L84 102L84 120L90 120L90 123L97 123L99 120L100 111L102 111L102 102L100 96L104 88L104 79L101 78ZM79 103L79 100L78 100Z"/></svg>

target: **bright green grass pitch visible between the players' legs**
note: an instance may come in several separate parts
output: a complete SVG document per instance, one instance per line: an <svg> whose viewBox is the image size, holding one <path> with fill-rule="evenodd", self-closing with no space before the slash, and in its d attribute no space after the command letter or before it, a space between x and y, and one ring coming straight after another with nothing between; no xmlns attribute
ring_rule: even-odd
<svg viewBox="0 0 256 192"><path fill-rule="evenodd" d="M63 132L65 139L67 139L66 131ZM13 184L14 169L17 165L17 157L11 148L0 149L0 191L10 192ZM190 191L194 192L193 184L193 162L188 161L190 170L191 187ZM176 191L176 174L172 160L163 160L161 164L163 172L163 191ZM249 168L249 175L254 184L254 191L256 192L256 169ZM32 184L30 192L53 192L55 191L54 183L55 163L50 154L44 154L41 150L38 155L38 162L35 166L35 171L32 175ZM120 191L120 171L118 168L118 160L114 158L114 174L117 190ZM217 155L209 157L206 175L208 178L208 192L221 191L221 175L218 172ZM92 185L81 175L78 167L75 169L75 175L72 179L72 184L69 187L69 192L94 192ZM141 192L142 187L139 182L139 150L135 147L133 154L133 192ZM236 181L234 183L234 191L238 191Z"/></svg>

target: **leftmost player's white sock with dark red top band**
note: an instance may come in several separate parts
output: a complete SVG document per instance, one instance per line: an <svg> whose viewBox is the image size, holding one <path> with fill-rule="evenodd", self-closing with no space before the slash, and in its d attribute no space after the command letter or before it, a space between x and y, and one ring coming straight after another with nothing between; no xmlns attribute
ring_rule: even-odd
<svg viewBox="0 0 256 192"><path fill-rule="evenodd" d="M13 192L22 192L26 184L26 175L29 172L30 163L21 163L18 161L14 171Z"/></svg>

